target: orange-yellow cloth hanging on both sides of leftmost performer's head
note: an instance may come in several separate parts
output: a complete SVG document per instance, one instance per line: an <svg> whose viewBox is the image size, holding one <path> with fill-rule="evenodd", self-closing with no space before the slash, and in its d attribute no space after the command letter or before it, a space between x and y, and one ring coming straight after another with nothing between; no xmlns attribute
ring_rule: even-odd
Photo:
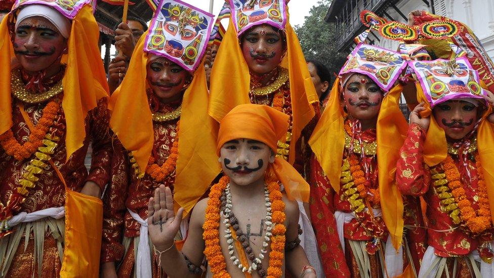
<svg viewBox="0 0 494 278"><path fill-rule="evenodd" d="M10 90L10 61L13 47L7 22L0 24L0 134L12 127L12 97ZM72 21L68 38L67 67L63 76L62 107L66 120L66 153L70 155L83 146L86 138L85 118L97 106L100 98L108 96L106 74L98 48L99 28L92 7L81 8ZM63 57L65 59L65 57Z"/></svg>

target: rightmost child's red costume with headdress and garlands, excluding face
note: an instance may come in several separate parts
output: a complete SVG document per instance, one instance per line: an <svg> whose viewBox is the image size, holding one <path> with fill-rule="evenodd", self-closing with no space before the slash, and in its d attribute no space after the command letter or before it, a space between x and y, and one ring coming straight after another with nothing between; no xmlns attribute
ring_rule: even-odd
<svg viewBox="0 0 494 278"><path fill-rule="evenodd" d="M420 117L430 117L430 124L427 131L417 124L408 127L396 169L401 193L423 198L428 247L419 276L491 277L494 175L488 165L492 163L494 129L486 121L491 107L485 109L482 95L487 95L487 87L481 81L487 82L491 76L481 74L480 69L492 62L479 60L479 53L484 50L473 46L477 43L475 39L465 44L464 38L473 34L464 24L425 12L414 19L425 30L422 39L428 38L426 49L440 57L433 61L409 61L418 102L425 103ZM425 27L434 24L449 24L450 33L443 33L439 40L438 34ZM469 55L463 49L469 49ZM455 82L466 83L468 88L458 90L449 86L437 90L438 84ZM451 100L469 102L481 115L472 131L454 142L448 142L437 123L439 119L431 114L436 105Z"/></svg>

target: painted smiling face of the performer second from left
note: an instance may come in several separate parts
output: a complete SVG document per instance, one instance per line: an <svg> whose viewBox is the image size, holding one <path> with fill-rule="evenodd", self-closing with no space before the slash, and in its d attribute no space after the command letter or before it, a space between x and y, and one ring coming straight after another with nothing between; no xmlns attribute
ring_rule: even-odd
<svg viewBox="0 0 494 278"><path fill-rule="evenodd" d="M162 103L180 100L191 77L185 69L164 57L151 61L146 71L149 85Z"/></svg>

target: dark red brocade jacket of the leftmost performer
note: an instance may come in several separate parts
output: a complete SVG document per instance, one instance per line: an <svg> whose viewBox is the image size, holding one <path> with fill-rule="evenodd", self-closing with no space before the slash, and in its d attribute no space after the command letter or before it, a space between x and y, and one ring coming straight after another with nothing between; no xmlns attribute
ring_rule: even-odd
<svg viewBox="0 0 494 278"><path fill-rule="evenodd" d="M12 105L12 132L15 139L24 144L31 133L21 115L17 103L13 97ZM33 125L36 125L43 115L43 108L48 101L36 104L24 104L24 110L27 112ZM61 108L60 110L63 110ZM59 110L59 115L60 115ZM57 116L58 117L58 116ZM107 110L106 100L98 101L98 106L89 111L86 117L86 139L84 145L77 149L66 162L65 150L65 116L63 112L56 118L53 127L63 131L58 141L58 146L52 155L52 160L62 173L67 186L74 190L80 191L86 181L93 181L98 184L103 192L105 185L110 178L110 157L112 153L111 138L108 133L109 112ZM83 127L81 127L83 128ZM91 169L84 166L84 160L88 151L89 143L92 142L93 154ZM32 156L31 156L32 157ZM12 191L19 186L19 180L22 179L23 169L30 162L30 158L23 161L17 161L13 156L8 155L0 147L0 198L3 204L9 200ZM61 207L65 204L65 187L60 181L52 167L45 170L39 175L39 180L35 182L35 187L29 189L29 195L22 204L22 212L35 212L38 210ZM20 211L14 212L15 214Z"/></svg>

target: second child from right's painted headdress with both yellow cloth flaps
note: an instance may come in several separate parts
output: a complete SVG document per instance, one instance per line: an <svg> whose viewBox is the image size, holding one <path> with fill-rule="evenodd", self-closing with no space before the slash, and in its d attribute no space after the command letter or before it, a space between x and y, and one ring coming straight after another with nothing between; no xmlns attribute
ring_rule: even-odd
<svg viewBox="0 0 494 278"><path fill-rule="evenodd" d="M341 176L339 166L342 165L343 160L344 118L346 117L345 111L340 106L340 97L344 89L342 78L348 78L348 75L352 73L363 74L381 88L385 97L377 122L379 192L381 200L386 200L386 202L381 202L383 219L393 236L393 244L398 250L403 229L403 204L401 194L394 185L394 177L399 149L406 135L407 123L399 108L403 87L396 81L406 67L406 59L399 52L364 44L369 32L384 26L386 20L367 11L362 12L361 18L369 29L355 38L357 46L348 56L339 78L333 85L330 100L312 133L309 144L332 187L339 192ZM407 32L414 32L406 26L398 27L404 29L400 32L405 35L409 35ZM415 36L415 34L412 35ZM395 39L401 41L403 37L398 36Z"/></svg>

